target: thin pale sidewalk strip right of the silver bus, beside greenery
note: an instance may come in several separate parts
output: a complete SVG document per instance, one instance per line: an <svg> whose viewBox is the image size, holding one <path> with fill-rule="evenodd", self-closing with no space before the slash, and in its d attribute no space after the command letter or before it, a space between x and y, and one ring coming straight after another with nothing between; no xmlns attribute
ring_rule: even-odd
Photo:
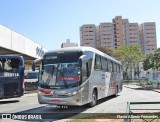
<svg viewBox="0 0 160 122"><path fill-rule="evenodd" d="M144 89L144 90L146 89L146 90L152 90L152 91L160 93L160 89L155 89L152 86L143 87L143 86L138 86L136 84L125 84L123 86L126 88L131 88L131 89Z"/></svg>

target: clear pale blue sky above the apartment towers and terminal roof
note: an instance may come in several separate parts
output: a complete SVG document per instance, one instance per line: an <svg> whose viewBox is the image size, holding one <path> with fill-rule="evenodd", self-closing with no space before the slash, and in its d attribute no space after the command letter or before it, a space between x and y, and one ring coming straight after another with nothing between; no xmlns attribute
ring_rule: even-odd
<svg viewBox="0 0 160 122"><path fill-rule="evenodd" d="M60 48L66 39L80 44L83 24L156 22L160 47L160 0L1 0L0 24L39 43L47 50Z"/></svg>

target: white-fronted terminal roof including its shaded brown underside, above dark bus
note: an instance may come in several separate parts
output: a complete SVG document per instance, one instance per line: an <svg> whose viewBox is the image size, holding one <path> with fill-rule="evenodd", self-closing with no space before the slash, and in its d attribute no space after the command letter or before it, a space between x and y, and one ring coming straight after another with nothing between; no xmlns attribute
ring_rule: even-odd
<svg viewBox="0 0 160 122"><path fill-rule="evenodd" d="M27 37L0 25L0 55L21 55L25 68L31 68L32 61L41 58L47 49Z"/></svg>

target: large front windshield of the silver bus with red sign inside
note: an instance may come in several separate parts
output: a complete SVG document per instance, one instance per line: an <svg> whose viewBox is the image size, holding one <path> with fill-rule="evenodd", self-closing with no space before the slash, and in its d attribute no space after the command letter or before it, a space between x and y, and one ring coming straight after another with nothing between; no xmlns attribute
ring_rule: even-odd
<svg viewBox="0 0 160 122"><path fill-rule="evenodd" d="M80 53L63 53L46 56L39 84L45 88L69 88L79 84L78 59Z"/></svg>

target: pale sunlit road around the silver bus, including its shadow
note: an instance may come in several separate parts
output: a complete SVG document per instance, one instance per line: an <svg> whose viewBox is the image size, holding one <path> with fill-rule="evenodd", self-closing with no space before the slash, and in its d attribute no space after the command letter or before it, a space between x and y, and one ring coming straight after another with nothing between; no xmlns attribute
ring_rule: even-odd
<svg viewBox="0 0 160 122"><path fill-rule="evenodd" d="M67 107L59 108L51 105L40 105L37 100L37 94L25 94L23 97L14 99L5 99L0 101L0 113L29 113L51 116L52 120L67 119L78 114L89 115L94 113L125 113L127 102L159 102L160 93L151 90L131 89L123 87L123 90L117 97L107 97L98 101L93 108ZM136 108L160 109L159 104L155 105L137 105ZM160 110L159 110L160 111ZM144 110L143 112L149 112ZM87 113L87 114L86 114ZM46 116L46 115L44 115Z"/></svg>

